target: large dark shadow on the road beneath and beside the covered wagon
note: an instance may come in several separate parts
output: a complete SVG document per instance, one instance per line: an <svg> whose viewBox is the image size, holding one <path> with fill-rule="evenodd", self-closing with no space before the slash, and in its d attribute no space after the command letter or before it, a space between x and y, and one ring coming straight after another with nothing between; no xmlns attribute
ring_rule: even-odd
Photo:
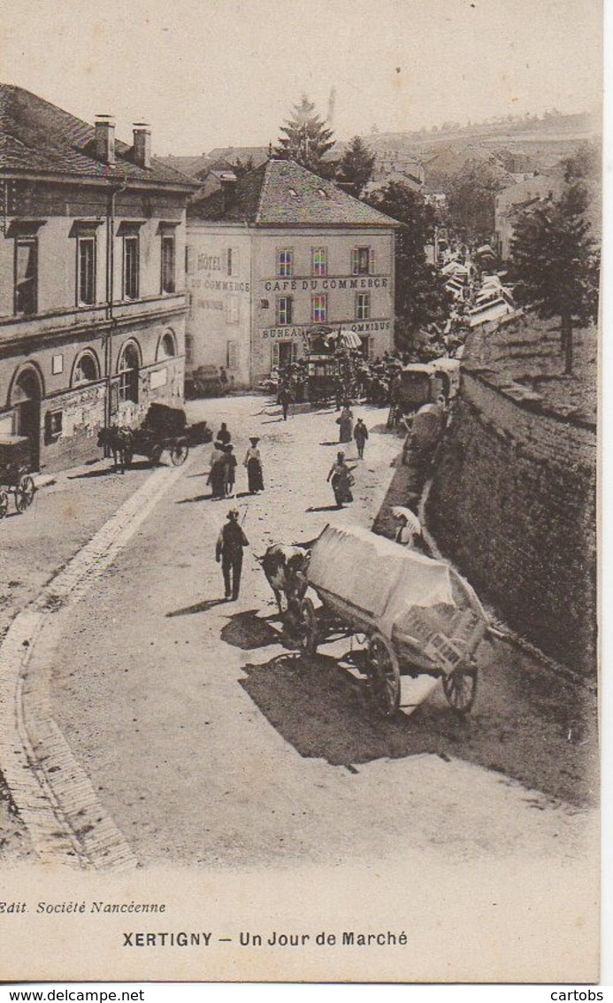
<svg viewBox="0 0 613 1003"><path fill-rule="evenodd" d="M465 717L440 687L411 716L379 716L365 682L350 671L352 661L360 667L359 652L343 659L278 655L244 666L240 685L302 756L349 767L432 754L494 770L571 804L595 803L598 752L589 694L526 665L522 671L506 645L485 647L492 662L480 672L477 703Z"/></svg>

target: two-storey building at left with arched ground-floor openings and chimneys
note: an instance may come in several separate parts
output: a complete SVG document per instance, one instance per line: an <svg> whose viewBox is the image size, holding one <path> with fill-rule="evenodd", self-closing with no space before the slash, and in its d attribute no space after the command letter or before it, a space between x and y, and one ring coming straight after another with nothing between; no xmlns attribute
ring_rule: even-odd
<svg viewBox="0 0 613 1003"><path fill-rule="evenodd" d="M183 399L185 207L196 186L0 84L0 434L35 467L99 455L98 430Z"/></svg>

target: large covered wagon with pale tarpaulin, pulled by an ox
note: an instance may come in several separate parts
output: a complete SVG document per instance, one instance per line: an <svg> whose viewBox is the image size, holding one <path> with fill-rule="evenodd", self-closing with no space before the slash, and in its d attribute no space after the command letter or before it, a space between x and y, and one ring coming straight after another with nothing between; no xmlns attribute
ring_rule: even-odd
<svg viewBox="0 0 613 1003"><path fill-rule="evenodd" d="M366 530L327 526L306 579L322 605L304 595L293 612L304 655L334 637L363 634L367 686L384 717L399 710L403 675L441 678L449 704L471 710L488 621L453 568Z"/></svg>

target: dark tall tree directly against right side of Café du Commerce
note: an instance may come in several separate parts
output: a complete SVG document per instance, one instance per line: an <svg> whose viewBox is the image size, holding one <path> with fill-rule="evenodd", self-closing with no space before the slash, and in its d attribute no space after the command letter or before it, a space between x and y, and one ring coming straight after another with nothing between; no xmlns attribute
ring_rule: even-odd
<svg viewBox="0 0 613 1003"><path fill-rule="evenodd" d="M445 323L453 303L443 276L426 260L436 214L418 192L400 182L391 182L369 203L402 224L396 234L397 343L411 348L421 327Z"/></svg>

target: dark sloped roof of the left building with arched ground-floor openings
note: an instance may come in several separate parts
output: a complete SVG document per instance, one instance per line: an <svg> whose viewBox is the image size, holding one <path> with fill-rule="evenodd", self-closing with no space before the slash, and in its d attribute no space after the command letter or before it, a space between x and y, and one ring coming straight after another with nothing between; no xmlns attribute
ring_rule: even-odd
<svg viewBox="0 0 613 1003"><path fill-rule="evenodd" d="M188 178L158 159L140 168L132 155L131 146L115 140L115 163L104 163L96 156L93 125L29 90L0 83L0 171L191 187Z"/></svg>

